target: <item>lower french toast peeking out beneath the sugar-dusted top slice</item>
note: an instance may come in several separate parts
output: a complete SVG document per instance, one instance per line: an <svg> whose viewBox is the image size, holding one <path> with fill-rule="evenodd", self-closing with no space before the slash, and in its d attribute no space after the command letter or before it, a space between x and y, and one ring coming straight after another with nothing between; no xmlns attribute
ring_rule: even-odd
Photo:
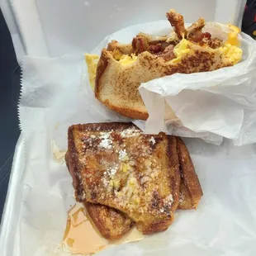
<svg viewBox="0 0 256 256"><path fill-rule="evenodd" d="M186 145L180 138L176 137L176 140L180 170L185 173L185 175L181 175L178 208L182 210L193 209L197 207L197 204L202 195L201 186L197 178L197 173L194 171L192 160L189 156ZM183 164L183 162L186 164ZM69 153L66 154L66 164L69 168ZM189 171L191 171L192 176L187 178L187 172ZM197 186L197 191L195 194L188 192L188 189L184 183L184 178L187 179L187 187ZM194 201L192 201L192 198ZM122 235L125 235L134 225L134 222L131 221L128 216L123 214L121 211L116 211L114 208L100 204L92 204L86 201L84 201L83 204L86 208L89 218L92 220L92 223L97 227L97 230L99 230L102 236L106 239L119 239Z"/></svg>

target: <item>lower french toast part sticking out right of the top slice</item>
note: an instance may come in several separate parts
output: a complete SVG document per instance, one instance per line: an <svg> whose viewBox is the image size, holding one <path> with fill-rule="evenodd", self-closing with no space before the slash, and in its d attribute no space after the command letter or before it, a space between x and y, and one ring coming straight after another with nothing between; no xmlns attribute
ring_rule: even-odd
<svg viewBox="0 0 256 256"><path fill-rule="evenodd" d="M196 209L203 195L201 185L197 178L197 173L192 164L192 159L187 151L183 140L177 137L178 158L180 163L180 172L182 182L180 187L179 209Z"/></svg>

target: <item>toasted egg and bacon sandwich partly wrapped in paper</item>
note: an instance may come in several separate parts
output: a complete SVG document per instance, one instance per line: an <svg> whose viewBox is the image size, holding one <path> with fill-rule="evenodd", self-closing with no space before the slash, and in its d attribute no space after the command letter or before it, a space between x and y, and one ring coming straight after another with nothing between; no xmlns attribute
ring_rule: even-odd
<svg viewBox="0 0 256 256"><path fill-rule="evenodd" d="M199 18L185 28L181 14L174 10L166 17L173 26L169 36L140 33L130 44L112 40L102 55L85 55L90 83L97 100L108 108L133 119L146 120L148 111L140 97L140 83L173 73L207 72L237 64L239 28L230 26L227 40L202 31Z"/></svg>

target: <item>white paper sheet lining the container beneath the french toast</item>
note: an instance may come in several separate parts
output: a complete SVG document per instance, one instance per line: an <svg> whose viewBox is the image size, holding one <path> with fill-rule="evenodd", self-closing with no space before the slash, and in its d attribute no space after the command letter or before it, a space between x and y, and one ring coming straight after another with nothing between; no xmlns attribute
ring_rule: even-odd
<svg viewBox="0 0 256 256"><path fill-rule="evenodd" d="M131 27L116 32L104 42L111 38L130 41L140 31L163 34L166 26L165 21L158 21ZM82 83L87 79L83 77L83 69L82 53L58 59L27 57L23 63L19 112L26 142L26 167L21 182L27 192L19 220L22 256L66 255L58 250L58 244L64 235L67 211L74 203L73 187L65 165L55 162L52 140L64 151L70 125L128 121L93 98L88 83ZM245 88L248 90L243 93L249 92L249 86ZM254 111L246 115L248 122L242 125L249 130L255 120ZM211 134L211 137L204 131L204 136L217 141L222 135ZM98 255L255 254L255 145L234 147L225 141L216 146L197 139L186 140L186 144L204 192L197 211L178 211L166 232L135 244L114 246Z"/></svg>

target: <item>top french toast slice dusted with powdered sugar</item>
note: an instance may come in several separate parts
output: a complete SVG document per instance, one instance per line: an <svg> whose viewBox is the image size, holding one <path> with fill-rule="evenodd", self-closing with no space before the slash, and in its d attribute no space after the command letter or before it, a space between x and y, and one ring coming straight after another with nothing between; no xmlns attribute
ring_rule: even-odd
<svg viewBox="0 0 256 256"><path fill-rule="evenodd" d="M166 230L179 200L176 139L127 123L69 127L69 171L78 201L115 208L144 234Z"/></svg>

